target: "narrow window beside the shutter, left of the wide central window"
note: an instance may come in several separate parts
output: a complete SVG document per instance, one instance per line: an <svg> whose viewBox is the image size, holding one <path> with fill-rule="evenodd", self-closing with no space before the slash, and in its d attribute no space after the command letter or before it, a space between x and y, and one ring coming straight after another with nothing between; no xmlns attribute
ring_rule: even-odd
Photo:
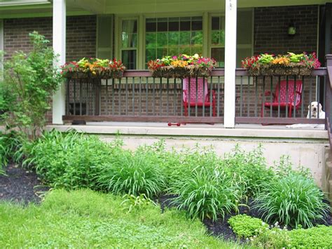
<svg viewBox="0 0 332 249"><path fill-rule="evenodd" d="M123 20L121 25L121 59L127 69L137 69L137 20Z"/></svg>

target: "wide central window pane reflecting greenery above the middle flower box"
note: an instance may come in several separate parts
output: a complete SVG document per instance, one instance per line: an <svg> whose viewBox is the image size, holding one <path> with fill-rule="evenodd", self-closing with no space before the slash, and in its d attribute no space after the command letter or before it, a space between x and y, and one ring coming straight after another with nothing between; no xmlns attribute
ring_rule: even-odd
<svg viewBox="0 0 332 249"><path fill-rule="evenodd" d="M145 62L165 55L202 54L202 17L147 18Z"/></svg>

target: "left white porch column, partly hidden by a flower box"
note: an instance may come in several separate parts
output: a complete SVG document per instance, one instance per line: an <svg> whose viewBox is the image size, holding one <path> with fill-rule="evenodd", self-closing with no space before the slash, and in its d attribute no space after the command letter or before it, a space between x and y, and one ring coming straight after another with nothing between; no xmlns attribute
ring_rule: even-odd
<svg viewBox="0 0 332 249"><path fill-rule="evenodd" d="M66 0L53 0L53 50L59 55L56 65L66 62ZM66 93L64 83L53 95L53 115L55 124L63 124L62 115L65 113Z"/></svg>

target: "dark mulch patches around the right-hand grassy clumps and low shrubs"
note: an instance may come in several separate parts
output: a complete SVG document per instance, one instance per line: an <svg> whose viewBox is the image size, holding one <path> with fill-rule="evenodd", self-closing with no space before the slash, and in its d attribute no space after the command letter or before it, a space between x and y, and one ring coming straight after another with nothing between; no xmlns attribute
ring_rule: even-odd
<svg viewBox="0 0 332 249"><path fill-rule="evenodd" d="M172 198L174 196L160 196L158 198L158 202L162 206L162 210L165 207L170 207L170 203L172 202ZM239 208L240 214L246 214L251 217L257 217L262 219L262 213L258 212L258 210L254 208L249 208L250 206L253 206L254 203L251 199L248 201L248 206L241 206ZM233 233L233 230L230 228L230 225L228 224L228 219L236 215L235 213L232 213L231 215L226 215L224 219L218 219L216 221L213 221L211 219L205 219L203 220L203 223L205 224L205 227L207 227L208 231L214 235L219 236L225 240L231 240L231 241L238 241L236 235ZM326 226L332 226L332 213L328 210L326 213L326 216L323 220L320 220L318 222L314 222L314 224L324 224ZM273 224L270 224L273 225ZM240 240L241 242L244 242L244 239Z"/></svg>

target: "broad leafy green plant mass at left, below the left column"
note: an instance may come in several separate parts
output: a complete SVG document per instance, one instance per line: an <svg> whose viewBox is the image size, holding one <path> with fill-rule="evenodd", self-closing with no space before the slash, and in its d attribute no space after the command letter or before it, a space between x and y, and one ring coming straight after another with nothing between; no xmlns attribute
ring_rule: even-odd
<svg viewBox="0 0 332 249"><path fill-rule="evenodd" d="M110 144L96 136L76 132L43 133L36 142L22 148L27 155L23 166L32 166L36 173L52 187L78 189L95 188L99 166L113 158Z"/></svg>

